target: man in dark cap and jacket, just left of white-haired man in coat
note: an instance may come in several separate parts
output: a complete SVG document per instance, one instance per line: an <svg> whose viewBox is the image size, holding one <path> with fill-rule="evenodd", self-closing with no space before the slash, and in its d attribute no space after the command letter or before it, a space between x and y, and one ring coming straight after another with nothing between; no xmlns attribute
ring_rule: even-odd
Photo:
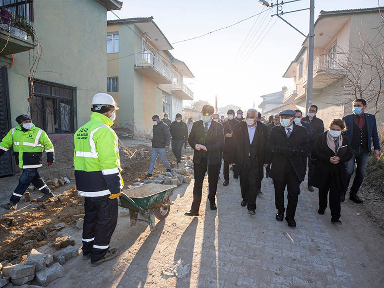
<svg viewBox="0 0 384 288"><path fill-rule="evenodd" d="M227 115L228 115L228 120L226 120L223 123L224 135L225 135L225 145L223 147L223 158L224 158L223 185L224 186L228 186L229 184L229 165L231 164L231 162L229 161L229 152L231 150L231 144L233 142L233 139L232 139L233 127L235 127L236 124L240 123L240 121L236 120L235 111L233 111L232 109L228 110Z"/></svg>

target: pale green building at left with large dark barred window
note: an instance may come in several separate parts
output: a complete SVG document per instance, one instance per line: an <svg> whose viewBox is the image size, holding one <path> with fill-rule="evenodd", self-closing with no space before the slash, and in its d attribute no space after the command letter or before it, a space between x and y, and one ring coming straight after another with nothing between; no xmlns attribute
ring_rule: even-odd
<svg viewBox="0 0 384 288"><path fill-rule="evenodd" d="M0 139L20 114L31 115L54 144L89 120L93 95L107 89L107 11L122 4L0 0ZM11 150L1 157L0 176L15 171Z"/></svg>

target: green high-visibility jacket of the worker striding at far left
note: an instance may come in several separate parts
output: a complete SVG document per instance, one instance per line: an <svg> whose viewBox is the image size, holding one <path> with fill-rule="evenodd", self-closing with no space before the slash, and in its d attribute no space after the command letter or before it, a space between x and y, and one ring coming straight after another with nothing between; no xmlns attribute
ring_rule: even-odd
<svg viewBox="0 0 384 288"><path fill-rule="evenodd" d="M0 157L13 146L13 155L20 169L42 167L42 152L47 152L47 162L55 162L54 146L47 133L35 125L24 132L21 125L9 130L0 142Z"/></svg>

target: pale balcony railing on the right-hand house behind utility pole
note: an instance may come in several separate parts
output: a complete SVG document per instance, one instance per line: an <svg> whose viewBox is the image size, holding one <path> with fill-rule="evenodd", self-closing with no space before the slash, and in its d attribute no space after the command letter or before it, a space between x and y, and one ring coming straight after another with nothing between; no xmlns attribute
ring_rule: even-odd
<svg viewBox="0 0 384 288"><path fill-rule="evenodd" d="M346 68L348 54L323 54L314 60L314 75L319 72L343 73ZM304 70L303 82L308 80L308 68Z"/></svg>

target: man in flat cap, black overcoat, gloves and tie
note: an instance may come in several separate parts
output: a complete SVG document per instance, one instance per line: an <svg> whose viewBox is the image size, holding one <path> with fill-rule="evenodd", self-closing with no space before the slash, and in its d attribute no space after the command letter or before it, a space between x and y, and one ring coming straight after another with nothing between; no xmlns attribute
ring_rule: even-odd
<svg viewBox="0 0 384 288"><path fill-rule="evenodd" d="M266 146L266 151L273 155L269 176L275 186L276 220L284 219L284 190L287 186L288 205L285 220L289 227L296 227L295 212L300 183L304 181L306 171L303 155L310 152L311 145L307 129L294 123L295 111L284 110L279 115L281 126L271 129Z"/></svg>

